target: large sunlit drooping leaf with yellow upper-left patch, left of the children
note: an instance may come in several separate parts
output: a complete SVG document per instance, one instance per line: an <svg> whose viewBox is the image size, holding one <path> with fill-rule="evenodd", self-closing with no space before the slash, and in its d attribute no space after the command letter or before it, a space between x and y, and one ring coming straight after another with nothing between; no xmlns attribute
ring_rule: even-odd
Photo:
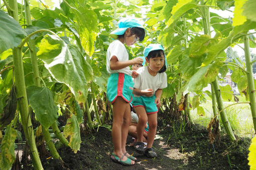
<svg viewBox="0 0 256 170"><path fill-rule="evenodd" d="M39 48L38 57L44 61L51 75L70 87L77 102L84 104L92 69L81 53L60 37L49 34L42 39Z"/></svg>

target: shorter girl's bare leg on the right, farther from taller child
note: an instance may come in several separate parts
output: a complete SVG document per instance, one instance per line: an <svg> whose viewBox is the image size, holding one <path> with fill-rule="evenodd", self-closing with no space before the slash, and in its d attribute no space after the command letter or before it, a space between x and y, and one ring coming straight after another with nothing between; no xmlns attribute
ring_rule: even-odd
<svg viewBox="0 0 256 170"><path fill-rule="evenodd" d="M157 131L157 113L148 114L149 132L148 132L148 145L151 148Z"/></svg>

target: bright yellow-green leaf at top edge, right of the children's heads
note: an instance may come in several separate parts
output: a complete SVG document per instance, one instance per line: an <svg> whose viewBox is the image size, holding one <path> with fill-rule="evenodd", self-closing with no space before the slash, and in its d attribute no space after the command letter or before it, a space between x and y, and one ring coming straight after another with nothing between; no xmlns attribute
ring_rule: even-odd
<svg viewBox="0 0 256 170"><path fill-rule="evenodd" d="M195 3L190 3L192 0L178 0L178 3L173 6L172 16L167 22L167 26L170 26L176 19L180 18L186 11L197 6Z"/></svg>

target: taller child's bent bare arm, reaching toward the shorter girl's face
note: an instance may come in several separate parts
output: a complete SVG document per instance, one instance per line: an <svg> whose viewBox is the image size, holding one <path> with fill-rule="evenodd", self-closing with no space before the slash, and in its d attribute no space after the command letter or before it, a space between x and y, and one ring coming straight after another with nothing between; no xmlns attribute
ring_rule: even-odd
<svg viewBox="0 0 256 170"><path fill-rule="evenodd" d="M117 57L113 55L110 59L109 66L111 70L116 70L116 69L122 69L122 68L125 68L126 66L137 64L137 63L142 64L143 59L141 57L137 57L127 61L118 61Z"/></svg>

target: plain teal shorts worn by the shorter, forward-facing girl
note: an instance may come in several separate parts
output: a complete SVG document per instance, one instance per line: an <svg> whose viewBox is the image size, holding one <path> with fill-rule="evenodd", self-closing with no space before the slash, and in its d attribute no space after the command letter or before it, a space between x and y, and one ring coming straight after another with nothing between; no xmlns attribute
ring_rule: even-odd
<svg viewBox="0 0 256 170"><path fill-rule="evenodd" d="M150 97L147 96L133 96L132 104L133 107L143 106L147 112L147 114L157 113L158 108L155 103L156 96L152 95Z"/></svg>

